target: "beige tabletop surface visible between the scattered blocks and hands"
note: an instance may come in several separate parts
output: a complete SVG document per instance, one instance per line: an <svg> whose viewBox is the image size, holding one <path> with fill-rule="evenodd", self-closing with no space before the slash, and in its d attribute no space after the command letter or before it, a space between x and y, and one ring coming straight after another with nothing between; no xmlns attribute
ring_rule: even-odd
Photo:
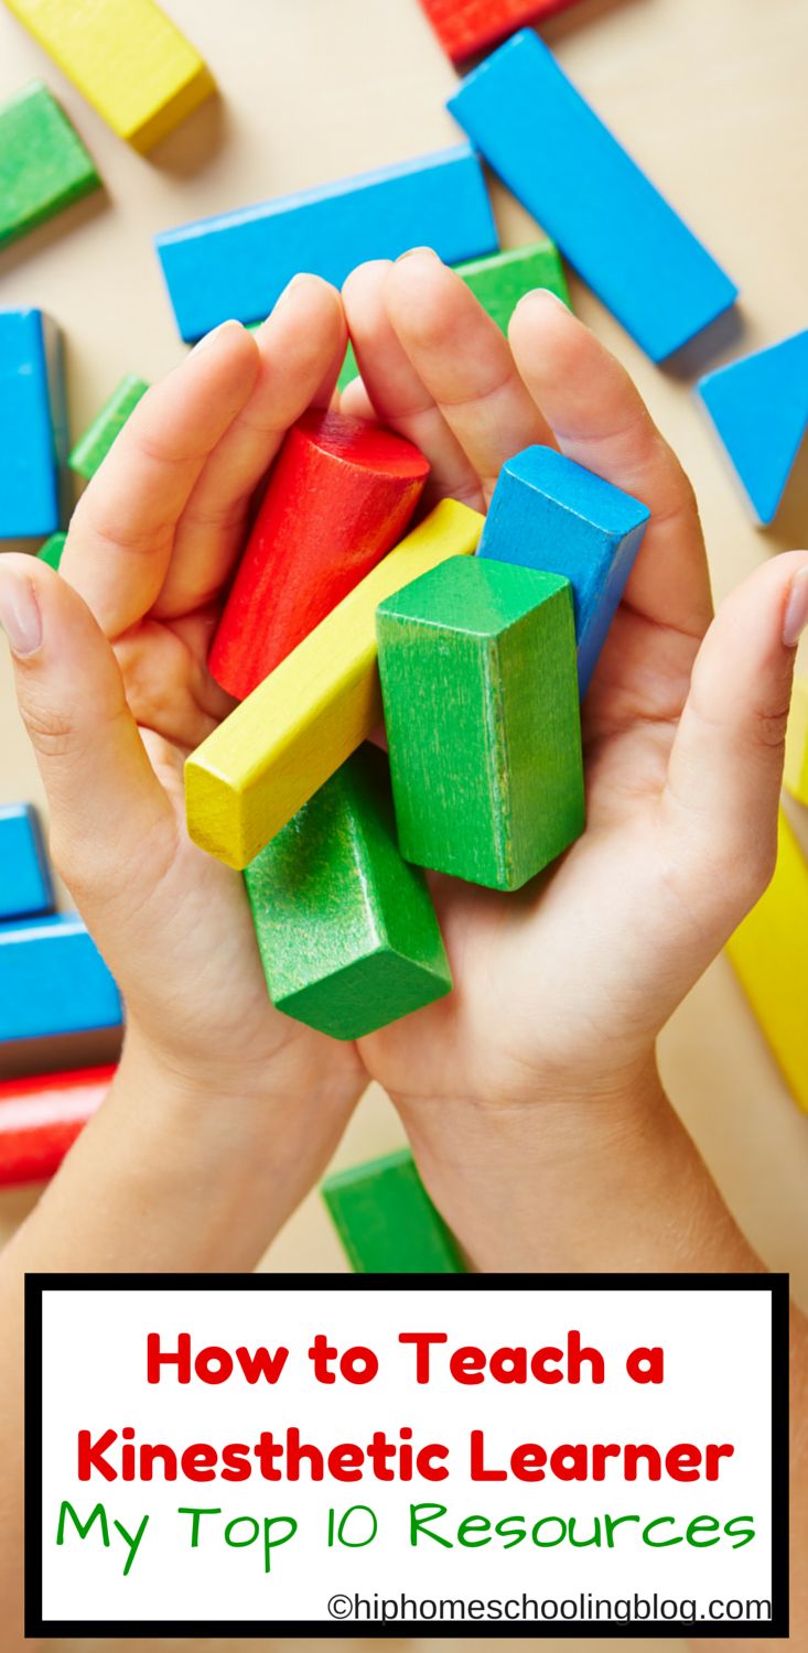
<svg viewBox="0 0 808 1653"><path fill-rule="evenodd" d="M144 160L112 137L0 10L0 96L41 74L106 180L104 198L81 203L0 258L0 302L41 304L64 329L73 435L124 372L155 379L183 350L152 251L154 231L458 137L443 107L454 73L416 0L169 0L169 12L205 53L221 99ZM808 217L796 169L808 152L805 0L777 0L775 7L762 0L580 0L544 33L739 281L739 334L715 360L805 326ZM506 245L530 240L530 220L499 190L496 207ZM573 298L636 375L694 478L717 598L763 557L805 545L805 455L775 526L760 532L694 403L692 379L646 362L577 284ZM0 729L0 797L41 800L5 650ZM793 1271L808 1304L806 1121L724 960L674 1017L661 1056L673 1099L742 1227L767 1263ZM390 1106L368 1094L340 1162L397 1141ZM0 1197L0 1233L30 1203L28 1193ZM289 1223L266 1266L342 1268L316 1197ZM578 1645L590 1646L587 1640Z"/></svg>

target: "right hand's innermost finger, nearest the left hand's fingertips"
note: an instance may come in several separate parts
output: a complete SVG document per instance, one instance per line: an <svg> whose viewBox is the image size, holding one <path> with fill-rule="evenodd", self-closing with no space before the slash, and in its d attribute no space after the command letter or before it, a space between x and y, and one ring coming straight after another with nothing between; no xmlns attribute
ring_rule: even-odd
<svg viewBox="0 0 808 1653"><path fill-rule="evenodd" d="M390 269L390 261L383 258L359 264L342 289L362 374L362 379L345 388L342 412L359 418L375 413L383 425L415 441L431 464L428 498L461 499L479 509L479 476L425 388L387 314L385 284Z"/></svg>

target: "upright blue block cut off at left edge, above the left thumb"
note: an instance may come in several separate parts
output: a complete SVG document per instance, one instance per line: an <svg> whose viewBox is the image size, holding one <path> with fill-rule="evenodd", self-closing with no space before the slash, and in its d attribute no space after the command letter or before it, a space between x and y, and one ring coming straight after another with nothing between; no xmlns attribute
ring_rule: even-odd
<svg viewBox="0 0 808 1653"><path fill-rule="evenodd" d="M59 527L66 450L58 327L36 309L0 309L0 539Z"/></svg>

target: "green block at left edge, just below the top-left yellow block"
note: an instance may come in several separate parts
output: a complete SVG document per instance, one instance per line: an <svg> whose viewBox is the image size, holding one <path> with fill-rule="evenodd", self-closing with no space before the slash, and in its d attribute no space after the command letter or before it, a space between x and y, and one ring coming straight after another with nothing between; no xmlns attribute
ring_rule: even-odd
<svg viewBox="0 0 808 1653"><path fill-rule="evenodd" d="M0 104L0 246L99 187L81 137L41 81Z"/></svg>

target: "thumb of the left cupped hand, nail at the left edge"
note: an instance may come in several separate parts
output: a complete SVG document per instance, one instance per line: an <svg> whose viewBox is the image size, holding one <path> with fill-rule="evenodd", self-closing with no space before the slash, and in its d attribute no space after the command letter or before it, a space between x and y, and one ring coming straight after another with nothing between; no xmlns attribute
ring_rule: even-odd
<svg viewBox="0 0 808 1653"><path fill-rule="evenodd" d="M149 764L111 645L84 600L35 557L0 557L0 625L50 807L51 855L93 929L173 810ZM129 889L131 896L132 891ZM104 937L99 936L101 942Z"/></svg>

